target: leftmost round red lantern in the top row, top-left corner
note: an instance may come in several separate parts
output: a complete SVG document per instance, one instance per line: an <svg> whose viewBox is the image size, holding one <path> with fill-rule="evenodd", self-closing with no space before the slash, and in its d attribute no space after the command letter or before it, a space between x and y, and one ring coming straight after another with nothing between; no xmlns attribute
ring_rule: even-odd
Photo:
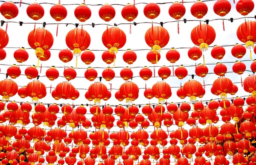
<svg viewBox="0 0 256 165"><path fill-rule="evenodd" d="M19 9L13 2L5 2L0 6L0 12L7 20L17 17Z"/></svg>

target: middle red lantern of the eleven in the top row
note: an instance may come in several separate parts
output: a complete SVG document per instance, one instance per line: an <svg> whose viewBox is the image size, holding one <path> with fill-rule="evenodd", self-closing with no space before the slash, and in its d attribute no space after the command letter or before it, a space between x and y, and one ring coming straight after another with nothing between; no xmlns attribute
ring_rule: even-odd
<svg viewBox="0 0 256 165"><path fill-rule="evenodd" d="M135 5L128 3L121 11L122 17L131 22L138 16L138 9Z"/></svg>

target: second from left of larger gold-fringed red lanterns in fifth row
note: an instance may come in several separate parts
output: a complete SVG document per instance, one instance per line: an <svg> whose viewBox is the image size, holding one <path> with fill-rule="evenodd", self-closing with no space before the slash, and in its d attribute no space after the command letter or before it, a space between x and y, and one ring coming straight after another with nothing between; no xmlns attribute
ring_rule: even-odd
<svg viewBox="0 0 256 165"><path fill-rule="evenodd" d="M39 98L45 97L46 87L40 81L35 80L26 85L26 92L29 97L32 97L32 102L38 102Z"/></svg>

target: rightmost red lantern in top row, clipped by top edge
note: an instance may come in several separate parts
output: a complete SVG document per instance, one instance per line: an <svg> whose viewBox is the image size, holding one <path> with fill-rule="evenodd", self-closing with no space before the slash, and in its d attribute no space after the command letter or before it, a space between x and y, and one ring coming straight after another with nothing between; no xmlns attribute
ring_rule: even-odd
<svg viewBox="0 0 256 165"><path fill-rule="evenodd" d="M241 15L248 15L254 9L253 0L239 0L236 3L236 11Z"/></svg>

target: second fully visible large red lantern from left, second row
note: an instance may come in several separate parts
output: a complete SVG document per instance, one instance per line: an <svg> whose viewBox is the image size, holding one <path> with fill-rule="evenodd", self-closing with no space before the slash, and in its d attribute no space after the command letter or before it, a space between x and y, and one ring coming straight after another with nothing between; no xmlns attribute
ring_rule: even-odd
<svg viewBox="0 0 256 165"><path fill-rule="evenodd" d="M75 28L67 33L66 44L67 47L73 50L73 55L79 57L81 51L90 46L90 35L84 29Z"/></svg>

